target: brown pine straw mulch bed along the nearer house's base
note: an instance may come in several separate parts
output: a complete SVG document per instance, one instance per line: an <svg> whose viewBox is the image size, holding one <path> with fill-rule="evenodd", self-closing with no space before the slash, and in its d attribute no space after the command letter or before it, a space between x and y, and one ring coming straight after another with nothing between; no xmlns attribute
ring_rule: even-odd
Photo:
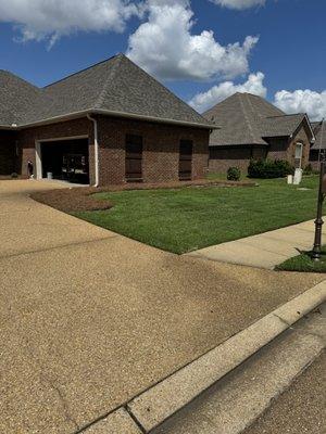
<svg viewBox="0 0 326 434"><path fill-rule="evenodd" d="M126 183L111 187L74 187L67 189L55 189L39 191L30 194L30 197L45 205L51 206L65 213L84 210L103 210L112 208L109 201L97 199L93 193L116 192L126 190L159 190L178 189L186 187L255 187L251 181L222 181L222 180L198 180L183 182L162 183Z"/></svg>

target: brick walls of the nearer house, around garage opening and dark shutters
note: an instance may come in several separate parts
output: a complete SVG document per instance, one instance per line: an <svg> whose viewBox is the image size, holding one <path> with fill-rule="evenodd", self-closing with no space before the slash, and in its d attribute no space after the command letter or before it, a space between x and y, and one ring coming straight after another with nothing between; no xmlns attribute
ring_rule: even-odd
<svg viewBox="0 0 326 434"><path fill-rule="evenodd" d="M98 116L100 184L125 182L126 135L143 138L142 173L145 182L178 180L179 142L193 141L192 178L203 178L208 169L209 130ZM36 167L38 140L77 136L89 137L90 183L95 183L93 126L87 118L51 124L18 131L18 173L27 176L27 162Z"/></svg>

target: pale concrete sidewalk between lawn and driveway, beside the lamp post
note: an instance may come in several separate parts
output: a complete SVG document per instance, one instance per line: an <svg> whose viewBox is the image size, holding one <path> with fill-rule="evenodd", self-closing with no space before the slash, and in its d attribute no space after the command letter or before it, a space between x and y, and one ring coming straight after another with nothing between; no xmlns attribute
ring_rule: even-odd
<svg viewBox="0 0 326 434"><path fill-rule="evenodd" d="M325 228L326 229L326 228ZM323 234L326 234L326 231ZM185 256L249 267L274 269L301 251L310 251L314 242L314 220L212 245Z"/></svg>

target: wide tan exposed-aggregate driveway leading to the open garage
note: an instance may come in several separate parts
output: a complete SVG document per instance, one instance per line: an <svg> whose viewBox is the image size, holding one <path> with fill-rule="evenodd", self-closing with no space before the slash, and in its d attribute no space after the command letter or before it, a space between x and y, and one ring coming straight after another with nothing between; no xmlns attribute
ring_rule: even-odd
<svg viewBox="0 0 326 434"><path fill-rule="evenodd" d="M76 433L322 280L175 256L28 196L58 187L0 182L1 433Z"/></svg>

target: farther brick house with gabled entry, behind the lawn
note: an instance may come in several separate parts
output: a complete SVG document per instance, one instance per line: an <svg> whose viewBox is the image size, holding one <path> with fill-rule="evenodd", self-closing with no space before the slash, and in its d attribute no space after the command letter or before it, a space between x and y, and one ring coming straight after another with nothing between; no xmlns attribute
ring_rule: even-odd
<svg viewBox="0 0 326 434"><path fill-rule="evenodd" d="M204 113L220 129L210 138L210 171L238 166L247 171L251 158L309 164L312 126L305 114L286 115L263 98L235 93Z"/></svg>

